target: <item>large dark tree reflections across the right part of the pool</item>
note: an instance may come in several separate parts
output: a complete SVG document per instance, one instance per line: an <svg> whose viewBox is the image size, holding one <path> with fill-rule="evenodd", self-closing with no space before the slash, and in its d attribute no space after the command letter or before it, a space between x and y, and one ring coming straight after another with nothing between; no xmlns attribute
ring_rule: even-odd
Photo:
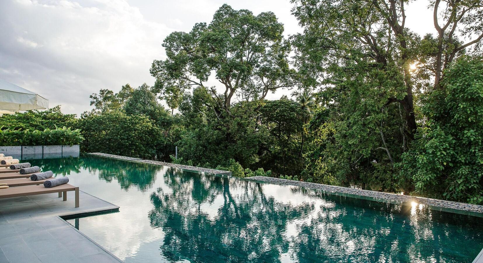
<svg viewBox="0 0 483 263"><path fill-rule="evenodd" d="M465 253L468 258L468 253L474 253L474 248L465 250L461 244L483 243L481 231L464 231L477 225L475 219L424 207L368 202L303 188L292 188L291 194L307 202L284 204L267 197L260 184L234 178L179 176L169 170L164 180L169 189L152 193L155 208L149 218L153 227L163 228L160 250L172 261L280 262L283 256L294 262L431 258L460 262ZM223 202L213 220L202 206L212 204L217 196ZM467 225L462 228L460 221ZM287 225L293 225L293 231Z"/></svg>

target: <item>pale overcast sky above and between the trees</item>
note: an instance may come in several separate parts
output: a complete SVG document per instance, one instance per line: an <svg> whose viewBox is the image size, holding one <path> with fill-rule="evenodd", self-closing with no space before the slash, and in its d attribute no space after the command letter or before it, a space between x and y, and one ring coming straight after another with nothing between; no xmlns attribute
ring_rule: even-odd
<svg viewBox="0 0 483 263"><path fill-rule="evenodd" d="M153 85L149 68L165 58L163 39L209 23L223 3L272 11L285 35L300 31L289 0L0 0L0 78L80 114L101 88ZM406 26L419 34L435 31L427 4L407 7Z"/></svg>

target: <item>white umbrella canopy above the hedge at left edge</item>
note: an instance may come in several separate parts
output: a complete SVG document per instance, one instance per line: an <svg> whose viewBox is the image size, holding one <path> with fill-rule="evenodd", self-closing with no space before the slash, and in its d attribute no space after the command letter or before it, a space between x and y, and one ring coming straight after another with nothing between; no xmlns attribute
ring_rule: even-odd
<svg viewBox="0 0 483 263"><path fill-rule="evenodd" d="M2 111L1 113L46 109L48 107L49 100L39 94L0 79L0 110L9 111Z"/></svg>

